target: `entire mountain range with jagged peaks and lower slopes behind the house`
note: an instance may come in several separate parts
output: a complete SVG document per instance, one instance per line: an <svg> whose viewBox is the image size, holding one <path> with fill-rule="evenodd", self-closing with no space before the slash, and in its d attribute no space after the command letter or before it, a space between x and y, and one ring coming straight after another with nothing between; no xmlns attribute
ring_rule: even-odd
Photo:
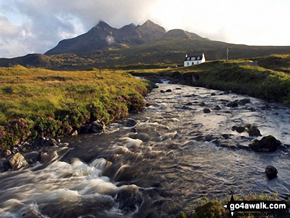
<svg viewBox="0 0 290 218"><path fill-rule="evenodd" d="M290 46L249 46L211 41L180 29L165 28L148 20L120 29L100 21L87 33L60 41L44 54L0 58L0 66L20 64L48 69L83 69L116 65L182 64L186 53L205 53L207 60L252 58L270 54L290 54Z"/></svg>

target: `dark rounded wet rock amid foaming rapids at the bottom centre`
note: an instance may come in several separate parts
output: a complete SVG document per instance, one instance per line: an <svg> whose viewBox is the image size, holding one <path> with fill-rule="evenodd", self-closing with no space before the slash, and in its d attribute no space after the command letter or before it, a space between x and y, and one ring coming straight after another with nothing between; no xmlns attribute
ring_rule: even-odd
<svg viewBox="0 0 290 218"><path fill-rule="evenodd" d="M139 208L143 199L138 188L135 185L130 185L118 192L116 201L119 203L120 210L129 213Z"/></svg>

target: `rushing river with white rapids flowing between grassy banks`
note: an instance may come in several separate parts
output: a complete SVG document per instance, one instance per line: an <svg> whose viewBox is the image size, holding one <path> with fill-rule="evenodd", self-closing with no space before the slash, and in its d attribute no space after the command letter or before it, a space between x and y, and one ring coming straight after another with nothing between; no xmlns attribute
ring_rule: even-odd
<svg viewBox="0 0 290 218"><path fill-rule="evenodd" d="M61 160L0 174L0 217L35 209L49 218L169 218L230 190L290 196L289 153L237 149L254 138L231 130L255 124L263 136L290 144L289 108L206 88L159 86L146 97L150 106L130 117L136 126L124 120L103 133L71 137ZM246 97L249 104L225 105ZM217 105L221 110L213 110ZM267 179L267 165L278 169L277 178Z"/></svg>

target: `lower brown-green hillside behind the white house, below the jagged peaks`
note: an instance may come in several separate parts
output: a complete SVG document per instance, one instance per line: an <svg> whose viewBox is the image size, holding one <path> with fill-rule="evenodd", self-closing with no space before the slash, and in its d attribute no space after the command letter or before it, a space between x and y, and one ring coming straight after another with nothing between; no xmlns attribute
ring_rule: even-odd
<svg viewBox="0 0 290 218"><path fill-rule="evenodd" d="M188 35L188 33L178 34L180 33L177 31L177 34L153 43L141 45L113 44L100 50L78 54L50 56L30 54L12 59L1 58L0 67L8 67L15 64L52 70L82 70L88 67L111 68L113 66L124 67L128 65L160 65L168 67L182 64L186 53L201 54L204 52L207 61L225 59L227 47L229 48L230 59L252 59L273 54L280 54L280 56L290 54L290 46L227 44L210 40L184 38L184 34ZM268 60L259 58L258 60L261 63L263 61L268 63ZM277 61L279 62L278 59Z"/></svg>

